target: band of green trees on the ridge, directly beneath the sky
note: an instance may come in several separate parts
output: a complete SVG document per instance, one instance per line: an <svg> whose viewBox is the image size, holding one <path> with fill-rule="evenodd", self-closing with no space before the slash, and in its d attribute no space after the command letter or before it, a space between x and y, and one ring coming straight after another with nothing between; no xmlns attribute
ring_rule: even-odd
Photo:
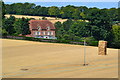
<svg viewBox="0 0 120 80"><path fill-rule="evenodd" d="M89 16L92 19L92 15L96 15L99 13L107 14L113 21L118 21L118 9L110 8L110 9L99 9L96 7L88 8L86 6L51 6L44 7L40 5L35 5L34 3L13 3L13 4L5 4L6 14L18 14L18 15L34 15L34 16L51 16L51 17L59 17L59 18L67 18L67 19L87 19ZM93 13L94 12L94 13ZM91 14L93 13L93 14ZM91 16L90 16L91 15ZM99 16L99 15L98 15Z"/></svg>

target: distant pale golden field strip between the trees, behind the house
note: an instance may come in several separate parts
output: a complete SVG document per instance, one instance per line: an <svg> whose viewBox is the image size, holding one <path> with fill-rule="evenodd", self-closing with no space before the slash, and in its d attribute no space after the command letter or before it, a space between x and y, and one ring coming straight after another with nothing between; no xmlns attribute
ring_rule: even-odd
<svg viewBox="0 0 120 80"><path fill-rule="evenodd" d="M6 14L5 16L6 16L7 18L10 17L9 14ZM12 15L12 16L15 16L16 18L22 18L22 17L24 17L24 18L34 18L34 19L36 19L36 20L42 19L42 17L43 17L43 16L27 16L27 15ZM45 18L47 18L47 19L48 19L50 22L52 22L53 24L54 24L55 22L58 22L58 21L61 22L61 23L67 21L67 19L61 19L61 18L56 19L55 17L45 17Z"/></svg>

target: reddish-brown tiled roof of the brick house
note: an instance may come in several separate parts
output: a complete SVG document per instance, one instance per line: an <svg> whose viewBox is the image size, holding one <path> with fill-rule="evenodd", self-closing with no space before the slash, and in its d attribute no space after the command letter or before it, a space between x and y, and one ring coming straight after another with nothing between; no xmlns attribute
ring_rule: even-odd
<svg viewBox="0 0 120 80"><path fill-rule="evenodd" d="M54 25L48 20L30 20L29 23L30 29L38 29L39 26L42 29L47 29L48 26L50 29L55 29Z"/></svg>

